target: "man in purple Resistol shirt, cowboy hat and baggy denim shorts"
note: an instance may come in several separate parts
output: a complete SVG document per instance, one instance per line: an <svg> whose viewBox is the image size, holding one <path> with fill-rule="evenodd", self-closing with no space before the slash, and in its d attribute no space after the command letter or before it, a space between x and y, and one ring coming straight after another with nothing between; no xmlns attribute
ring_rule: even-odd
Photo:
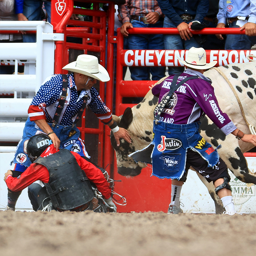
<svg viewBox="0 0 256 256"><path fill-rule="evenodd" d="M214 150L200 136L200 118L206 113L226 135L232 133L244 142L256 145L256 136L240 131L219 108L211 80L203 75L217 61L206 63L205 50L195 47L189 49L186 61L180 61L187 68L185 72L165 77L152 88L153 95L159 97L153 129L152 174L161 179L172 179L168 213L182 212L181 188L191 166L208 182L213 181L215 192L226 210L224 213L233 215L236 211L227 166L219 158L217 148Z"/></svg>

